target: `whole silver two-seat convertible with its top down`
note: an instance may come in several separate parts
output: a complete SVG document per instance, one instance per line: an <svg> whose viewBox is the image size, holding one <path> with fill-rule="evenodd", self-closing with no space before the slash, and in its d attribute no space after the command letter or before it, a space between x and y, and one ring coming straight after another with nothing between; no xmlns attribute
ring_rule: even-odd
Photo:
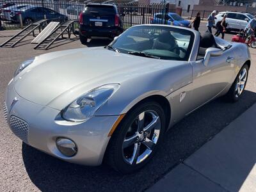
<svg viewBox="0 0 256 192"><path fill-rule="evenodd" d="M16 136L47 154L130 173L181 118L216 97L239 100L250 65L244 44L134 26L106 47L24 61L8 84L4 115Z"/></svg>

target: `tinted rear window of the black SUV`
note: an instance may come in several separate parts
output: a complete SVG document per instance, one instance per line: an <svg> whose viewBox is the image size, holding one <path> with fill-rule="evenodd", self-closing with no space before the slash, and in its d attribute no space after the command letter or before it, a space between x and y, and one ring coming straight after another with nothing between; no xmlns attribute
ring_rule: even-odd
<svg viewBox="0 0 256 192"><path fill-rule="evenodd" d="M84 13L86 15L115 15L116 10L113 6L87 5Z"/></svg>

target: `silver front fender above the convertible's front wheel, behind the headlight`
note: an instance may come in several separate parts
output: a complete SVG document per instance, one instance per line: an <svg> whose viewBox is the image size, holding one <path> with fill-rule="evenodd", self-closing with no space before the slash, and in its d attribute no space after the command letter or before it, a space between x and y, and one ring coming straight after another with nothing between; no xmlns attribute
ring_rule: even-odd
<svg viewBox="0 0 256 192"><path fill-rule="evenodd" d="M186 64L148 73L121 83L118 91L96 113L96 116L121 115L152 95L166 97L192 82L192 66Z"/></svg>

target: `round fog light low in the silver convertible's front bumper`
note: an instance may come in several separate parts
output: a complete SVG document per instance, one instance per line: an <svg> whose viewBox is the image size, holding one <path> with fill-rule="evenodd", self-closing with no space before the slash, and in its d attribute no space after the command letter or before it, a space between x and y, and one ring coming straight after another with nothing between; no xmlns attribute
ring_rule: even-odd
<svg viewBox="0 0 256 192"><path fill-rule="evenodd" d="M61 154L64 156L72 157L77 153L76 143L67 138L57 138L56 145L58 150L60 150Z"/></svg>

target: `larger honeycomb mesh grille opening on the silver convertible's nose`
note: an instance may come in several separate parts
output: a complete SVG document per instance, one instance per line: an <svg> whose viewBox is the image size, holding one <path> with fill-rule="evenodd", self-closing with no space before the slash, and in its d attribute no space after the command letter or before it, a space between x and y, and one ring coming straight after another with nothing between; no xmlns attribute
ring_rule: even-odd
<svg viewBox="0 0 256 192"><path fill-rule="evenodd" d="M12 132L20 138L20 140L28 143L28 124L24 122L24 120L12 115L10 118L10 127Z"/></svg>

